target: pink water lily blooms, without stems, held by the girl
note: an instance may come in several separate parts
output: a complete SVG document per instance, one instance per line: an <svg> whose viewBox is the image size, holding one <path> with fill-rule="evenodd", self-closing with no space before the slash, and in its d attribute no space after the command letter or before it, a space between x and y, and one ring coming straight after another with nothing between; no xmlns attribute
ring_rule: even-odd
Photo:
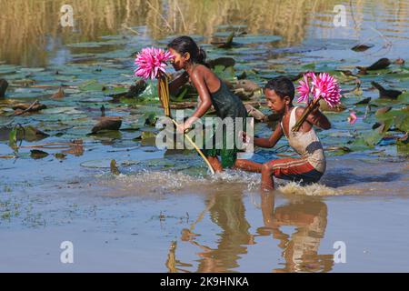
<svg viewBox="0 0 409 291"><path fill-rule="evenodd" d="M172 57L170 52L165 52L160 48L146 47L142 49L136 55L135 65L138 67L135 70L135 76L155 79L159 73L165 73L166 62Z"/></svg>

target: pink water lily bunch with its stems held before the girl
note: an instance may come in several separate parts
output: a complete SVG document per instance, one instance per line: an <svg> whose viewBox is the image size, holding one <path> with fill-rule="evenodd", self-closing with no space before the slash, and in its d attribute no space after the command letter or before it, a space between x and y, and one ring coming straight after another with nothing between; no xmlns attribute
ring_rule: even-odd
<svg viewBox="0 0 409 291"><path fill-rule="evenodd" d="M170 61L173 55L170 52L165 52L161 48L146 47L136 55L135 76L147 79L158 79L159 99L165 109L165 115L170 116L169 106L169 85L165 72L166 62Z"/></svg>

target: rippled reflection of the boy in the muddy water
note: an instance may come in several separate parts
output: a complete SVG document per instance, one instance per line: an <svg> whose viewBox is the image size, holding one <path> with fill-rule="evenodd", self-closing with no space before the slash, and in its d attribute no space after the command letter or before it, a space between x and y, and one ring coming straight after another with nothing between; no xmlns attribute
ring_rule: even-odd
<svg viewBox="0 0 409 291"><path fill-rule="evenodd" d="M285 260L284 268L274 272L329 272L334 266L334 255L319 255L318 248L324 238L327 224L327 207L321 201L300 201L274 209L274 193L262 193L264 227L260 236L271 233L280 241ZM296 226L291 236L280 230L282 226ZM270 231L267 232L266 230Z"/></svg>

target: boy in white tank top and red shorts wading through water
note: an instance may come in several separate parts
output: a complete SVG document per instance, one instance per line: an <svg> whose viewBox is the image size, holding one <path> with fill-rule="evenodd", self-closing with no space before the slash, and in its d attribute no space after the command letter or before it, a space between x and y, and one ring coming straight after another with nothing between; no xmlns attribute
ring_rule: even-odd
<svg viewBox="0 0 409 291"><path fill-rule="evenodd" d="M300 158L283 158L272 160L264 165L248 160L238 160L237 167L243 170L262 174L262 188L274 189L274 176L280 179L302 183L316 183L324 175L324 149L313 125L322 129L331 128L328 118L317 107L304 121L298 132L292 128L303 115L304 107L294 107L294 85L290 79L278 76L270 80L264 87L267 106L276 113L283 115L273 135L268 138L255 138L254 146L274 147L280 138L285 135L288 143Z"/></svg>

